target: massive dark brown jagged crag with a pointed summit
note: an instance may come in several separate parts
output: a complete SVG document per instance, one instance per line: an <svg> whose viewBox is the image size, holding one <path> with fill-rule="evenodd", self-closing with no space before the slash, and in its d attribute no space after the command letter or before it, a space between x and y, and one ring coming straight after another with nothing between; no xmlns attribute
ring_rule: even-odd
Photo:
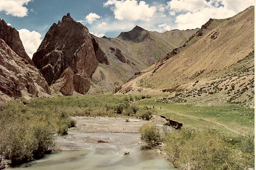
<svg viewBox="0 0 256 170"><path fill-rule="evenodd" d="M72 80L74 90L81 94L89 90L90 78L98 62L108 64L108 59L99 48L98 42L90 35L88 29L75 22L69 13L63 16L58 24L51 26L32 60L49 85L61 82L58 79L65 77L62 74L70 74L71 71L64 72L70 67L73 79L69 81ZM70 95L71 92L62 94Z"/></svg>

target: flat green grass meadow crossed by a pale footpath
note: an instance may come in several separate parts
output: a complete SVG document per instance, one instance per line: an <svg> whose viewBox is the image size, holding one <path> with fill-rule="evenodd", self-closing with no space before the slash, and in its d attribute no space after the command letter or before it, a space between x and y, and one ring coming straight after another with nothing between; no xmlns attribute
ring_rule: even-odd
<svg viewBox="0 0 256 170"><path fill-rule="evenodd" d="M193 106L191 104L152 102L152 100L144 101L141 104L148 107L154 106L157 114L191 128L214 128L231 137L254 134L254 109L246 109L243 106Z"/></svg>

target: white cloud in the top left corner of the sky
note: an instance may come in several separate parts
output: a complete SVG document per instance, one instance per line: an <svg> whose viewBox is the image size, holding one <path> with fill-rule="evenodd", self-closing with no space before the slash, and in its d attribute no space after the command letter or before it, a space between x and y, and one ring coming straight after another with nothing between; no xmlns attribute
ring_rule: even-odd
<svg viewBox="0 0 256 170"><path fill-rule="evenodd" d="M0 0L0 11L12 16L27 16L28 9L24 5L30 1L32 0Z"/></svg>

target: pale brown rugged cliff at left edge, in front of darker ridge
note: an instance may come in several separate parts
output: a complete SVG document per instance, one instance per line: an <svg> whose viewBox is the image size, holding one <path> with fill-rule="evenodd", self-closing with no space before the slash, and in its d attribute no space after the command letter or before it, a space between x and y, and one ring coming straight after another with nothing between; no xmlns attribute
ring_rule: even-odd
<svg viewBox="0 0 256 170"><path fill-rule="evenodd" d="M40 92L51 94L39 70L18 56L2 39L0 39L0 80L0 102L4 102L6 98L4 95L19 98L38 96Z"/></svg>

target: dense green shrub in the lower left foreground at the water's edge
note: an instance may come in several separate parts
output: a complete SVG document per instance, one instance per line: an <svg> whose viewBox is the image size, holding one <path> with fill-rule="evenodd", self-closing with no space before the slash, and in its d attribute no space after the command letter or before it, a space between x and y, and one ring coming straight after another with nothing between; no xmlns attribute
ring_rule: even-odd
<svg viewBox="0 0 256 170"><path fill-rule="evenodd" d="M2 127L0 135L0 152L13 165L43 157L55 146L53 129L40 122L33 127L13 122Z"/></svg>

